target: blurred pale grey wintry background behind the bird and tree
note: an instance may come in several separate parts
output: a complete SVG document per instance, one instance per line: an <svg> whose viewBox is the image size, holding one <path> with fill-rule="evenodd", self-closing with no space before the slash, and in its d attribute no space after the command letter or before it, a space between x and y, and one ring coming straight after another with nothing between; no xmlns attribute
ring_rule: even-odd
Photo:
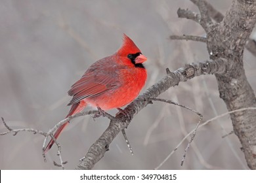
<svg viewBox="0 0 256 183"><path fill-rule="evenodd" d="M211 0L225 14L231 0ZM188 0L39 1L0 0L0 116L13 129L48 131L63 120L71 97L67 92L86 69L114 54L126 33L148 57L148 80L142 90L186 63L208 59L202 42L170 41L169 35L205 36L191 20L177 18L177 9L198 9ZM247 50L244 67L256 88L256 62ZM213 75L193 78L170 88L161 98L171 99L203 114L203 122L226 112ZM110 110L116 114L117 110ZM134 156L121 133L94 169L155 169L198 122L184 108L154 102L135 116L126 130ZM107 118L82 116L72 120L58 142L66 169L74 169L93 142L108 127ZM0 124L0 132L7 131ZM198 129L194 143L181 159L188 141L160 169L248 169L229 116ZM43 161L44 137L18 133L0 137L0 169L60 169L56 146Z"/></svg>

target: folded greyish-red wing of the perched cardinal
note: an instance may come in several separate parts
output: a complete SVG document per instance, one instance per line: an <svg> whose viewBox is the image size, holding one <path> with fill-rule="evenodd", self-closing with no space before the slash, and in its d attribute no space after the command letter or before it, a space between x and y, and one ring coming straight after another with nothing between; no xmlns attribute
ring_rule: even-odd
<svg viewBox="0 0 256 183"><path fill-rule="evenodd" d="M68 94L73 96L68 105L73 105L82 99L108 92L108 90L117 85L115 78L115 76L104 75L104 73L101 73L101 75L85 73L68 91Z"/></svg>

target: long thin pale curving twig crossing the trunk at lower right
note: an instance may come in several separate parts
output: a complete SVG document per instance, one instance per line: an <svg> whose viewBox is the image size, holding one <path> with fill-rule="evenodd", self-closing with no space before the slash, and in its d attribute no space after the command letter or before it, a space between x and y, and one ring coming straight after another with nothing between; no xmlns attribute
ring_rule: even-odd
<svg viewBox="0 0 256 183"><path fill-rule="evenodd" d="M207 125L209 124L209 122L212 122L213 120L217 120L219 118L222 118L223 116L226 116L228 114L232 114L234 112L240 112L240 111L243 111L243 110L256 110L256 107L247 107L247 108L240 108L240 109L236 109L236 110L232 110L232 111L229 111L229 112L225 112L219 116L215 116L214 118L211 118L210 120L207 120L206 122L204 122L203 124L199 125L198 126L198 129L200 127L203 127L204 125ZM182 140L181 142L179 142L179 144L174 148L174 150L171 151L171 153L165 158L163 159L163 161L160 163L160 165L158 165L158 167L156 167L155 169L160 169L160 167L174 154L174 152L179 148L179 146L181 146L182 142L184 142L186 140L187 137L189 137L193 132L194 132L195 129L193 129L192 131L190 131L190 133L188 133Z"/></svg>

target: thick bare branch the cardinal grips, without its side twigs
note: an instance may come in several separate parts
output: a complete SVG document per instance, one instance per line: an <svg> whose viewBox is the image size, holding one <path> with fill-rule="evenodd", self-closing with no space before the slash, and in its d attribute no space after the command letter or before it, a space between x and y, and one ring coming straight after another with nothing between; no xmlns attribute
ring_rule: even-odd
<svg viewBox="0 0 256 183"><path fill-rule="evenodd" d="M194 76L225 73L228 69L227 65L228 62L226 62L225 59L191 63L163 77L124 109L128 117L120 113L116 118L111 120L106 131L104 131L100 138L89 148L89 152L87 152L85 158L83 158L80 165L75 169L92 169L95 163L104 156L116 135L130 124L127 118L132 119L142 108L146 107L146 105L151 102L150 98L158 97L158 95L165 92L168 88L176 86L179 82L186 81Z"/></svg>

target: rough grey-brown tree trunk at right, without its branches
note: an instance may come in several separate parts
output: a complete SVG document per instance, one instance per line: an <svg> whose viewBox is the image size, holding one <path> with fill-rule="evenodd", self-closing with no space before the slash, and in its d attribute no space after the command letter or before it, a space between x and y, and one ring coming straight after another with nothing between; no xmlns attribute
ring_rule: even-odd
<svg viewBox="0 0 256 183"><path fill-rule="evenodd" d="M225 58L228 72L216 74L221 99L228 110L255 107L255 94L247 81L243 65L245 44L256 22L256 1L233 1L220 24L211 25L207 49L211 59ZM234 132L240 139L250 169L256 169L256 112L230 114Z"/></svg>

